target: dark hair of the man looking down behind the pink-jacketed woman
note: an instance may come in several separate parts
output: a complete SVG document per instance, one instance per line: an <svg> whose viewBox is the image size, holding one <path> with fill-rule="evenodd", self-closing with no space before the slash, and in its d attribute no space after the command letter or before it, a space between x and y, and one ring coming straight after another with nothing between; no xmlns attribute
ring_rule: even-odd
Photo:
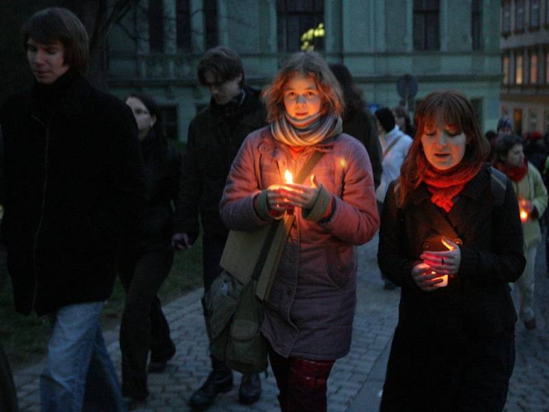
<svg viewBox="0 0 549 412"><path fill-rule="evenodd" d="M215 81L228 82L233 80L242 74L242 80L240 80L240 87L246 85L244 80L244 67L242 66L242 60L240 56L225 46L213 47L207 50L204 56L198 62L198 81L203 86L206 86L205 74L209 71L213 74Z"/></svg>

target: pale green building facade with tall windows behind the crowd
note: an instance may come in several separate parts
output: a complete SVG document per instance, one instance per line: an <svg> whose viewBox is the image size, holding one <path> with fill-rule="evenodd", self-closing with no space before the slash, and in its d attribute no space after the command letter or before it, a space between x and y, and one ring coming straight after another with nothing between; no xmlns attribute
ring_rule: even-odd
<svg viewBox="0 0 549 412"><path fill-rule="evenodd" d="M168 134L185 141L209 102L196 80L207 48L235 49L259 88L289 54L314 48L347 65L370 104L399 104L397 80L410 74L415 102L460 89L491 128L500 115L500 8L500 0L140 0L110 34L110 89L154 96Z"/></svg>

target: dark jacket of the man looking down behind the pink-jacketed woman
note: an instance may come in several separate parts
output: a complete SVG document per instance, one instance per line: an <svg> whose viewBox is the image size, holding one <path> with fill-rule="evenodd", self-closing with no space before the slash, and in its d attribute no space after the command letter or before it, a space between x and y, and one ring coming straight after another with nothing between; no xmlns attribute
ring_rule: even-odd
<svg viewBox="0 0 549 412"><path fill-rule="evenodd" d="M199 214L205 235L229 235L219 214L225 182L246 136L266 124L259 91L246 87L244 92L238 104L219 106L212 99L189 125L174 231L187 233L191 240L198 236Z"/></svg>

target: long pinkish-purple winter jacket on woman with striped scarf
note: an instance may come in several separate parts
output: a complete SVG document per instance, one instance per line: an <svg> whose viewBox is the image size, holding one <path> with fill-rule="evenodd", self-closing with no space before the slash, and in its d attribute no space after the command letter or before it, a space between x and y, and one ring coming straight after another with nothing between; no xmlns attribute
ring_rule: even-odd
<svg viewBox="0 0 549 412"><path fill-rule="evenodd" d="M379 227L370 159L360 141L345 134L308 147L292 159L268 127L246 137L226 182L220 214L229 229L252 230L270 222L254 209L254 198L294 176L314 150L325 155L312 174L333 196L326 220L296 219L283 251L261 332L282 356L334 360L351 346L355 310L356 246ZM304 184L309 184L309 178ZM306 212L306 211L305 211Z"/></svg>

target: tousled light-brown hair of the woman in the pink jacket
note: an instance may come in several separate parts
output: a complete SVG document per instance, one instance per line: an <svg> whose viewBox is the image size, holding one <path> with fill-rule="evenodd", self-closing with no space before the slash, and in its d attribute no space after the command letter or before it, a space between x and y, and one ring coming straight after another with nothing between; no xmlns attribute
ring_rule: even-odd
<svg viewBox="0 0 549 412"><path fill-rule="evenodd" d="M263 93L267 106L267 122L274 122L282 117L285 111L284 87L296 74L314 78L323 102L323 113L334 111L336 115L342 115L343 93L327 62L316 52L297 52L286 60Z"/></svg>

